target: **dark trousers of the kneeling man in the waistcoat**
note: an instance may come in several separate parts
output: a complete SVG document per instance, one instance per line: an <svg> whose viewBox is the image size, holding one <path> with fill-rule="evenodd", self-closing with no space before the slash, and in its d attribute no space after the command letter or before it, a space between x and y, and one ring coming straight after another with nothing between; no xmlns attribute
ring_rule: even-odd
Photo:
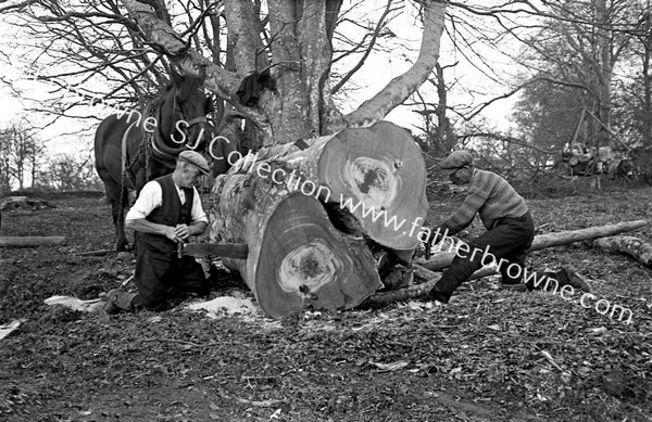
<svg viewBox="0 0 652 422"><path fill-rule="evenodd" d="M168 297L183 293L208 296L211 293L201 265L193 257L168 256L143 242L138 244L134 282L138 295L133 306L154 311L165 310Z"/></svg>

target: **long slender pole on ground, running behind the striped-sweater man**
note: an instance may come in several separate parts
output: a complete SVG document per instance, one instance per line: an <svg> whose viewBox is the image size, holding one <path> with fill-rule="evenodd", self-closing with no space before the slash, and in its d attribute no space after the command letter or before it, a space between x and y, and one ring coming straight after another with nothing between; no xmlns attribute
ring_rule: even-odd
<svg viewBox="0 0 652 422"><path fill-rule="evenodd" d="M624 221L615 225L595 226L580 230L569 230L560 231L556 233L541 234L535 236L535 240L529 251L539 251L546 247L561 246L579 241L611 236L617 233L623 233L625 231L640 229L647 223L648 221L645 220ZM453 261L454 257L454 252L439 252L431 259L427 261L424 259L417 259L417 263L424 268L427 268L432 271L439 271L449 267Z"/></svg>

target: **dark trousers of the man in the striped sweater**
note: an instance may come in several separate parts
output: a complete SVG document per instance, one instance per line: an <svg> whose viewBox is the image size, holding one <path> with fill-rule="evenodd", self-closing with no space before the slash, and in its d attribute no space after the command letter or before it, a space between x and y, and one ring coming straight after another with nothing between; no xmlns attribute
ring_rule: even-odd
<svg viewBox="0 0 652 422"><path fill-rule="evenodd" d="M492 256L496 257L497 264L502 259L500 273L503 283L519 283L525 271L526 251L531 246L534 239L535 225L529 212L518 218L498 219L490 230L468 244L468 254L455 254L449 269L430 291L430 297L448 303L455 289L475 271L491 264Z"/></svg>

